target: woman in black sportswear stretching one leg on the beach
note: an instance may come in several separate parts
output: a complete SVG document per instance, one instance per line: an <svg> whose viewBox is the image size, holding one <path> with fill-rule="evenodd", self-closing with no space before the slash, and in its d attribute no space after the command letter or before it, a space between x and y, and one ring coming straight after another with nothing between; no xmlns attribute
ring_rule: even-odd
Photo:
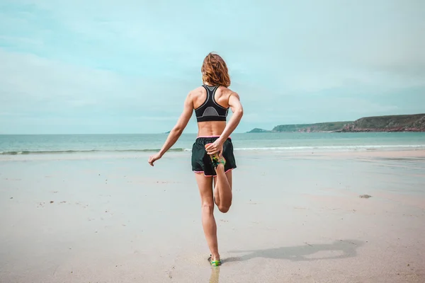
<svg viewBox="0 0 425 283"><path fill-rule="evenodd" d="M239 95L231 91L225 61L218 54L205 57L201 68L203 86L186 97L183 113L171 130L158 154L149 157L149 164L161 158L191 119L193 110L198 122L198 137L192 147L192 171L200 192L202 224L211 251L208 259L213 266L221 265L217 246L217 225L213 215L214 203L226 213L232 204L232 169L236 168L230 134L243 115ZM233 115L226 124L229 108ZM214 187L213 187L214 185Z"/></svg>

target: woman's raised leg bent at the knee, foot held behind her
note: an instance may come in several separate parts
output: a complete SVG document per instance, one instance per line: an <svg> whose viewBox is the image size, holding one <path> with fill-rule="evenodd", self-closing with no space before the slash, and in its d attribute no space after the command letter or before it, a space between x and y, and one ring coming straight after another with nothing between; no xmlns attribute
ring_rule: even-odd
<svg viewBox="0 0 425 283"><path fill-rule="evenodd" d="M215 172L217 172L214 178L215 204L220 212L226 213L232 205L232 171L225 173L225 166L219 164Z"/></svg>

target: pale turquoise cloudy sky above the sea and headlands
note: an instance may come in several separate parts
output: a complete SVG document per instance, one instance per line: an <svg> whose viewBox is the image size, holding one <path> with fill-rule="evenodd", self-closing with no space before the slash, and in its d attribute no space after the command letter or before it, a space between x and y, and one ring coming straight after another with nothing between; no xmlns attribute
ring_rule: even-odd
<svg viewBox="0 0 425 283"><path fill-rule="evenodd" d="M424 15L421 0L0 0L0 134L169 131L208 52L244 106L235 132L424 113Z"/></svg>

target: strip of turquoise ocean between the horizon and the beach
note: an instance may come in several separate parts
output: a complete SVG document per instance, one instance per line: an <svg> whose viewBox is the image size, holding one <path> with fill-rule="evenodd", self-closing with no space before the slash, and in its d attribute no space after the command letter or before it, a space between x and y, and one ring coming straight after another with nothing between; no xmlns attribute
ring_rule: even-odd
<svg viewBox="0 0 425 283"><path fill-rule="evenodd" d="M0 135L0 154L74 154L158 151L167 134ZM191 151L196 134L182 134L170 151ZM235 150L353 151L425 149L425 132L241 133Z"/></svg>

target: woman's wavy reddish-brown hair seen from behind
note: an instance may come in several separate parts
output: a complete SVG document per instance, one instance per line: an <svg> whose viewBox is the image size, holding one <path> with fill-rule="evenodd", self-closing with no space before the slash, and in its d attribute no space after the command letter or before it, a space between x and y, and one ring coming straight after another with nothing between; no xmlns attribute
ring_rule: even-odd
<svg viewBox="0 0 425 283"><path fill-rule="evenodd" d="M230 86L229 70L220 55L210 52L205 57L200 71L204 83L208 82L214 86Z"/></svg>

